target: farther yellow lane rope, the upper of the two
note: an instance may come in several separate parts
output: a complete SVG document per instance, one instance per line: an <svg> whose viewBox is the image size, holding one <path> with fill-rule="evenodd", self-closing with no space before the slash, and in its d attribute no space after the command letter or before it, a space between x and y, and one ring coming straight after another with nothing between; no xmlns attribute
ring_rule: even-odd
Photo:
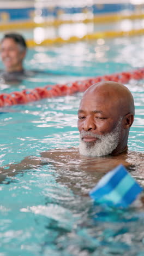
<svg viewBox="0 0 144 256"><path fill-rule="evenodd" d="M29 21L17 21L17 22L7 22L7 23L1 23L0 24L0 30L15 30L15 29L30 29L34 27L45 27L45 26L59 26L62 24L73 24L78 22L88 23L88 22L117 22L123 19L144 19L144 13L140 14L131 14L131 15L121 15L121 14L113 14L113 15L95 15L93 18L88 19L80 19L80 20L61 20L61 19L55 19L55 20L45 20L44 22L35 23L32 20Z"/></svg>

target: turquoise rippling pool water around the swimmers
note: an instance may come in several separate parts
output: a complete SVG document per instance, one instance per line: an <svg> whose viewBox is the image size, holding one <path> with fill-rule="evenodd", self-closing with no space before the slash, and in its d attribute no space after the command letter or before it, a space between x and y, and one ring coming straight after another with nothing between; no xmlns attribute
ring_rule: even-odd
<svg viewBox="0 0 144 256"><path fill-rule="evenodd" d="M30 49L27 69L49 75L23 80L2 91L35 88L143 67L144 37L97 40ZM1 64L2 67L2 64ZM143 80L127 84L136 115L129 149L143 152ZM77 108L82 94L1 109L1 166L53 148L78 146ZM8 110L4 113L4 110ZM92 173L71 162L52 164L6 178L0 185L1 255L144 255L143 210L93 205L85 195ZM73 168L74 166L74 168Z"/></svg>

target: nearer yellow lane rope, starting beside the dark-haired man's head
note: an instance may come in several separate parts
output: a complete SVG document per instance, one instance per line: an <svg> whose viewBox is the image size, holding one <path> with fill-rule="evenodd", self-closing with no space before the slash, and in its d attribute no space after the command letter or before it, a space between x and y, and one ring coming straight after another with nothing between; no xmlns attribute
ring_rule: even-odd
<svg viewBox="0 0 144 256"><path fill-rule="evenodd" d="M99 38L113 38L113 37L124 37L124 36L136 36L136 35L142 35L144 34L144 28L141 28L140 30L130 30L130 31L104 31L104 32L98 32L98 33L92 33L92 34L86 34L83 37L70 37L68 39L63 39L61 37L57 37L54 39L45 39L41 43L34 42L33 39L27 40L27 44L29 47L34 47L37 45L47 45L47 44L56 44L56 43L74 43L80 40L93 40L93 39L99 39Z"/></svg>

